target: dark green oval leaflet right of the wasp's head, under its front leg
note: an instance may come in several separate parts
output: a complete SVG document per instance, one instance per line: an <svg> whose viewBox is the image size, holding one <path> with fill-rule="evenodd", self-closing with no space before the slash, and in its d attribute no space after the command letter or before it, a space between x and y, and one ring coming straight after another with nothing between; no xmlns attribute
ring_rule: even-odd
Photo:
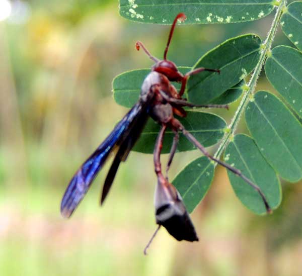
<svg viewBox="0 0 302 276"><path fill-rule="evenodd" d="M205 71L192 75L187 84L189 102L207 104L219 99L254 69L261 44L257 35L248 34L226 40L206 53L194 68L216 68L220 74Z"/></svg>

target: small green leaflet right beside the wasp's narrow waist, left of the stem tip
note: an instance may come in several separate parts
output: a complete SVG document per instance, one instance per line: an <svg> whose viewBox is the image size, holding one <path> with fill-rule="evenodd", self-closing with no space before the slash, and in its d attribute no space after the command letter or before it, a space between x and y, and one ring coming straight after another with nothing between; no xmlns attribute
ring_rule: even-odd
<svg viewBox="0 0 302 276"><path fill-rule="evenodd" d="M172 181L191 213L209 190L214 177L214 165L202 156L189 163Z"/></svg>

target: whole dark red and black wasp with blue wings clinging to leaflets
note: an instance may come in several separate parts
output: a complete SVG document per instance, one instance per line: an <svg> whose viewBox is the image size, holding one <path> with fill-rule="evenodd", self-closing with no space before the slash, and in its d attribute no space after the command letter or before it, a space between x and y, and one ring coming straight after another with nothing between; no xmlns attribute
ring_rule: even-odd
<svg viewBox="0 0 302 276"><path fill-rule="evenodd" d="M186 111L184 109L185 107L228 109L228 105L194 105L182 98L189 76L201 73L202 71L220 73L218 69L201 67L189 71L183 75L178 70L174 62L167 60L169 45L177 21L184 21L185 19L186 16L183 13L178 14L174 19L164 51L163 60L151 55L140 41L136 42L136 49L139 50L141 48L145 54L155 62L155 64L152 66L151 72L143 80L138 102L114 127L112 132L92 153L92 155L89 156L89 158L82 164L78 171L75 172L74 176L70 180L61 202L61 214L63 217L68 218L71 216L75 208L77 208L79 203L86 195L91 183L97 176L98 172L102 169L104 163L108 159L108 156L113 150L115 150L116 154L103 186L101 204L104 203L104 200L106 199L112 186L120 162L127 159L129 152L139 138L148 117L153 118L161 126L154 149L154 166L157 175L155 216L156 223L159 225L157 231L161 226L163 226L174 238L179 241L198 241L195 228L180 194L172 183L169 182L168 177L165 177L164 173L162 172L160 155L165 131L167 128L172 129L174 132L174 139L166 166L166 175L177 149L179 133L182 133L209 159L217 162L226 169L229 169L233 173L242 177L262 197L267 212L269 213L271 211L264 194L258 186L256 186L237 168L211 156L198 142L198 140L184 128L181 122L175 118L175 115L179 117L186 116ZM179 91L175 88L172 82L181 83L181 88ZM152 239L154 238L155 234L153 235ZM149 246L150 242L146 246L145 250Z"/></svg>

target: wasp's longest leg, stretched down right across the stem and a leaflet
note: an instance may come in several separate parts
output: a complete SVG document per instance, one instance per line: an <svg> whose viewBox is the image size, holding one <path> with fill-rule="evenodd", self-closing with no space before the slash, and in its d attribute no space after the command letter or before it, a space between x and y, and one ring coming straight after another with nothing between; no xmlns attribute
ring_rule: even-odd
<svg viewBox="0 0 302 276"><path fill-rule="evenodd" d="M173 121L173 125L175 127L177 127L186 137L189 141L191 141L206 157L208 157L209 159L217 162L218 164L220 164L221 166L231 170L233 173L237 174L238 176L240 176L241 178L243 178L247 183L248 185L250 185L252 188L254 188L258 194L261 196L262 200L263 200L263 203L265 205L265 208L266 208L266 212L267 213L271 213L272 210L271 208L269 207L269 204L266 200L266 197L264 196L264 194L262 193L262 191L260 190L260 188L255 185L249 178L247 178L244 174L242 174L242 172L237 169L237 168L234 168L232 167L231 165L229 165L228 163L225 163L213 156L211 156L207 150L198 142L198 140L190 133L188 132L184 126L177 120L177 119L174 119Z"/></svg>

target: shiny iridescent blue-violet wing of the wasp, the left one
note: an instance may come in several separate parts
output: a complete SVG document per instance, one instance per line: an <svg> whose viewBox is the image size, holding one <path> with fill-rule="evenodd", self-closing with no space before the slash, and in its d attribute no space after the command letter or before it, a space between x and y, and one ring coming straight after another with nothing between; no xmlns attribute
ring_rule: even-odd
<svg viewBox="0 0 302 276"><path fill-rule="evenodd" d="M139 121L138 118L146 118L146 107L146 104L138 102L74 174L62 198L63 217L70 217L79 205L112 149L119 147L123 141L127 140L131 129L135 128L135 123Z"/></svg>

